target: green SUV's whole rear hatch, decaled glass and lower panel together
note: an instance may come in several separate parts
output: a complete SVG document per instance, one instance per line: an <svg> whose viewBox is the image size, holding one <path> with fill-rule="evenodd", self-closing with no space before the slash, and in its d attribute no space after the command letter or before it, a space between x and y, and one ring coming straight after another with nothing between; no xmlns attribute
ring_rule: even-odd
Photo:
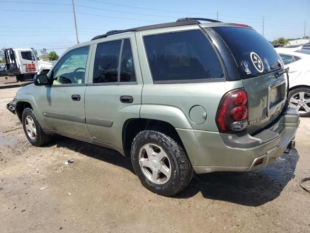
<svg viewBox="0 0 310 233"><path fill-rule="evenodd" d="M286 100L286 74L279 54L260 33L244 27L216 27L239 68L248 93L248 133L261 131L281 113Z"/></svg>

